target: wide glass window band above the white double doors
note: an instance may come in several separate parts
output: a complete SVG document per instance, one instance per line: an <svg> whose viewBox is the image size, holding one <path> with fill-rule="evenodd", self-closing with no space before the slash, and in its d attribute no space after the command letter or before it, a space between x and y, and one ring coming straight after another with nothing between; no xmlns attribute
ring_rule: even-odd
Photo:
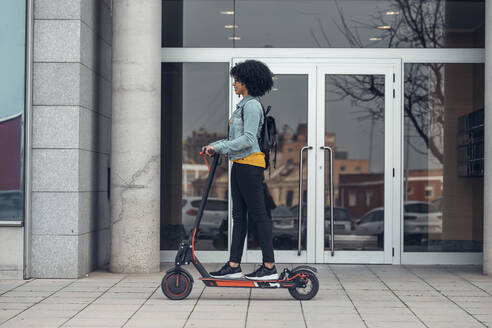
<svg viewBox="0 0 492 328"><path fill-rule="evenodd" d="M483 48L484 12L485 1L163 0L162 44L223 48Z"/></svg>

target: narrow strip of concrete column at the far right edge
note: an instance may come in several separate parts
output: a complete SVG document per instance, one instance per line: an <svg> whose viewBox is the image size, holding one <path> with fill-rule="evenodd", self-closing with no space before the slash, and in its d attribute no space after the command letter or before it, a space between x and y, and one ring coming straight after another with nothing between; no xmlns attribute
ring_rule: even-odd
<svg viewBox="0 0 492 328"><path fill-rule="evenodd" d="M492 275L492 0L485 2L485 177L483 272Z"/></svg>

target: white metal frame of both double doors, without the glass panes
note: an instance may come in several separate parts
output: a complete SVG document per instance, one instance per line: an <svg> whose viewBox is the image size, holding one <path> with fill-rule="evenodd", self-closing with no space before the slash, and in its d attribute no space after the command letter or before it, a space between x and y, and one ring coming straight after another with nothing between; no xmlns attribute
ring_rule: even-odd
<svg viewBox="0 0 492 328"><path fill-rule="evenodd" d="M236 57L235 63L246 57ZM401 59L342 59L342 58L258 58L275 74L308 75L308 142L307 151L307 242L306 250L276 250L277 262L289 263L400 263L401 253L401 195L402 195L402 63ZM324 74L380 74L385 75L385 240L384 251L336 251L331 256L324 250ZM314 76L313 76L314 74ZM314 77L314 80L313 80ZM239 102L230 84L230 114ZM314 134L314 135L313 135ZM231 164L230 164L231 165ZM229 168L230 170L230 168ZM229 249L232 236L232 200L229 188ZM310 220L309 218L315 218ZM261 262L261 251L248 251L245 243L244 262Z"/></svg>

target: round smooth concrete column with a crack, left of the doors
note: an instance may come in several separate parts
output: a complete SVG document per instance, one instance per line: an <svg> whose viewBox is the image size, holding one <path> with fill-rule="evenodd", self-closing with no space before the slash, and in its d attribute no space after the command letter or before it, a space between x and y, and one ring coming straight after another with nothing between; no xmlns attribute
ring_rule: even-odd
<svg viewBox="0 0 492 328"><path fill-rule="evenodd" d="M159 271L162 0L113 0L112 272Z"/></svg>

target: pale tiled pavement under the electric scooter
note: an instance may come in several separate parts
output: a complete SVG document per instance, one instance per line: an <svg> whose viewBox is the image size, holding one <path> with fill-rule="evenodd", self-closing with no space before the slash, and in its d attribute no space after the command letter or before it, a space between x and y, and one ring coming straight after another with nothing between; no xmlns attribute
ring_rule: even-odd
<svg viewBox="0 0 492 328"><path fill-rule="evenodd" d="M302 302L286 290L205 288L197 279L187 299L171 301L163 273L0 280L0 327L492 327L492 277L478 267L316 267L320 291Z"/></svg>

